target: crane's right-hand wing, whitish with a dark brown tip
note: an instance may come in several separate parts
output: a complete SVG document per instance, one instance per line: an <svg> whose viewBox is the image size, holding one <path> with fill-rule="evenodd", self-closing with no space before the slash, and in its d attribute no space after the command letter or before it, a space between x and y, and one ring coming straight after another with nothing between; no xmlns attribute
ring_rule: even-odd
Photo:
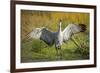
<svg viewBox="0 0 100 73"><path fill-rule="evenodd" d="M85 24L69 24L63 31L63 41L66 42L71 36L78 32L84 32L86 30Z"/></svg>

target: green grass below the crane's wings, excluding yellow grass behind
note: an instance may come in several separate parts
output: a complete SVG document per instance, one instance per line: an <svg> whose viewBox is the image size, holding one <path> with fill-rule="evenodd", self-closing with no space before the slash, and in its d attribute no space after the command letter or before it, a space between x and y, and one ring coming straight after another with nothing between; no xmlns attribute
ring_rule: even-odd
<svg viewBox="0 0 100 73"><path fill-rule="evenodd" d="M81 37L82 38L82 37ZM82 40L82 39L81 39ZM88 45L86 45L88 46ZM62 45L60 60L83 60L89 59L89 47L79 48L69 40ZM55 46L48 46L40 40L25 40L21 45L21 62L56 61Z"/></svg>

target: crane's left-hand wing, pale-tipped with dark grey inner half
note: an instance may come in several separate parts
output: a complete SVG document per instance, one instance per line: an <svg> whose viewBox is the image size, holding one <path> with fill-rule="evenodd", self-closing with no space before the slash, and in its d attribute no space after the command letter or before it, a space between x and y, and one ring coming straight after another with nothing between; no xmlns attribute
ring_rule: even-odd
<svg viewBox="0 0 100 73"><path fill-rule="evenodd" d="M55 36L55 32L51 32L44 27L36 28L29 34L30 38L43 40L48 45L54 44Z"/></svg>

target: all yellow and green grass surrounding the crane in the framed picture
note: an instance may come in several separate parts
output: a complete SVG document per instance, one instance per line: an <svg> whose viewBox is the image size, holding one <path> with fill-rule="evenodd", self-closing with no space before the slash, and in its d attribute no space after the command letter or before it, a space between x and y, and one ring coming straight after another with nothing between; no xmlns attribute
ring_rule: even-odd
<svg viewBox="0 0 100 73"><path fill-rule="evenodd" d="M64 29L70 23L83 23L89 32L89 14L75 12L44 12L44 11L21 11L21 62L44 62L56 61L55 46L48 46L41 40L30 39L26 35L34 28L47 27L52 31L57 31L58 22L62 19ZM89 59L89 33L75 34L74 38L81 46L79 48L71 40L62 45L60 60L85 60Z"/></svg>

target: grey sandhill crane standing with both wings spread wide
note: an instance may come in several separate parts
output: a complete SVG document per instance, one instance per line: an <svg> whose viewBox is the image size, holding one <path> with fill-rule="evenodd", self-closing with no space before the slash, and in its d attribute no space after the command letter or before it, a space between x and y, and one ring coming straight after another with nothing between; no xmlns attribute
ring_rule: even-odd
<svg viewBox="0 0 100 73"><path fill-rule="evenodd" d="M35 28L29 34L29 38L43 40L48 45L55 44L57 55L60 56L61 45L71 39L72 35L78 32L84 32L86 25L84 24L69 24L63 31L61 29L62 21L59 22L57 32L52 32L45 27Z"/></svg>

